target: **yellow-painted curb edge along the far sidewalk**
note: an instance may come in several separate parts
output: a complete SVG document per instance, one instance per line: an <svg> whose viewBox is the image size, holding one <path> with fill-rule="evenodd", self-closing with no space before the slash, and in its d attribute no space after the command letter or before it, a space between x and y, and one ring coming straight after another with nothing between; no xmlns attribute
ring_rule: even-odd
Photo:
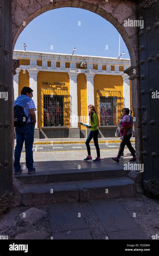
<svg viewBox="0 0 159 256"><path fill-rule="evenodd" d="M131 142L135 142L135 140L130 140ZM98 143L120 143L121 140L99 140ZM47 144L47 145L53 145L53 144L82 144L82 143L86 143L86 141L38 141L38 142L34 142L33 145L43 145L43 144ZM93 141L91 141L90 143L94 143Z"/></svg>

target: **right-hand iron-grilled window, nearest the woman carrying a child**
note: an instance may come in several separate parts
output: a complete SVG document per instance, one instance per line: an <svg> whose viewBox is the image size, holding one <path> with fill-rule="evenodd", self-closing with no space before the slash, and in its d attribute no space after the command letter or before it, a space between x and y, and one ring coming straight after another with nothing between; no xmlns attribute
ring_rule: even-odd
<svg viewBox="0 0 159 256"><path fill-rule="evenodd" d="M118 125L123 108L120 91L97 91L97 111L100 126Z"/></svg>

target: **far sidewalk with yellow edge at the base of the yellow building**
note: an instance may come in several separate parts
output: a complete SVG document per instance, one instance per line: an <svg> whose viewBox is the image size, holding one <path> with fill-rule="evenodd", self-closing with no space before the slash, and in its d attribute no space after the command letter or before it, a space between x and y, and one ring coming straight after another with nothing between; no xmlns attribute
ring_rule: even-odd
<svg viewBox="0 0 159 256"><path fill-rule="evenodd" d="M34 145L42 144L72 144L72 143L85 143L87 138L52 138L52 139L34 139ZM135 137L130 139L131 142L135 142ZM120 143L121 140L117 137L113 138L98 138L98 143ZM90 143L94 143L93 139ZM16 145L16 139L14 140Z"/></svg>

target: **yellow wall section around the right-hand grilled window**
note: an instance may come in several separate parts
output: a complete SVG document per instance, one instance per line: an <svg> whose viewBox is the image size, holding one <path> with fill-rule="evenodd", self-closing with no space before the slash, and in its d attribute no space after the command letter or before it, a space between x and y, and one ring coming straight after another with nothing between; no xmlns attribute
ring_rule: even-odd
<svg viewBox="0 0 159 256"><path fill-rule="evenodd" d="M97 108L97 98L98 98L98 90L104 91L121 91L121 103L123 107L123 79L120 75L98 75L94 76L94 99L95 99L95 108L96 111L99 112ZM103 95L105 96L105 95ZM109 96L109 95L108 95ZM117 104L119 101L117 100ZM99 118L99 117L98 117ZM118 113L118 122L120 121L120 115ZM100 119L100 118L99 118ZM100 120L99 120L100 121Z"/></svg>

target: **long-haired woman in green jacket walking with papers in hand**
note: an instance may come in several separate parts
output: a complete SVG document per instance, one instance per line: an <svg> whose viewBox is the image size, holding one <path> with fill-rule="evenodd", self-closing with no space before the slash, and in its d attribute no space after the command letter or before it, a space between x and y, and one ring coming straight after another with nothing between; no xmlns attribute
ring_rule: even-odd
<svg viewBox="0 0 159 256"><path fill-rule="evenodd" d="M85 161L92 160L91 149L90 149L90 141L93 138L94 145L95 145L96 151L97 151L97 158L95 160L93 160L93 162L100 162L101 158L100 158L100 150L99 150L99 145L98 145L98 133L99 133L99 130L98 130L98 125L99 125L98 116L97 116L96 109L93 105L88 106L88 112L89 112L90 126L88 126L87 128L91 128L91 131L90 131L90 134L88 135L87 140L86 140L88 156L84 160Z"/></svg>

